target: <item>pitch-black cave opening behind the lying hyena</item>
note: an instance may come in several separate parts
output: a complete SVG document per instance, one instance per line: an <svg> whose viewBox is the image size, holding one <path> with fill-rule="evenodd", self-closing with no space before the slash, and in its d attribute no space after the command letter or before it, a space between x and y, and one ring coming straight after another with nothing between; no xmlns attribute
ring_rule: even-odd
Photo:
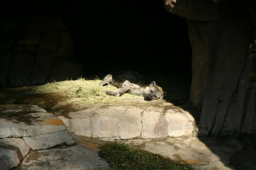
<svg viewBox="0 0 256 170"><path fill-rule="evenodd" d="M86 75L138 70L191 77L186 21L162 1L9 1L2 8L2 19L60 16Z"/></svg>

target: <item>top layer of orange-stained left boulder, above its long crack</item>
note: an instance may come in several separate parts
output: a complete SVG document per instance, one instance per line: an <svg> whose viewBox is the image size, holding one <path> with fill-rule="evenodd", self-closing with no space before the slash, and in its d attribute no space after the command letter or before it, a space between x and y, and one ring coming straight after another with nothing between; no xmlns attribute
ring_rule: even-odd
<svg viewBox="0 0 256 170"><path fill-rule="evenodd" d="M0 105L0 138L26 137L66 130L56 116L35 105Z"/></svg>

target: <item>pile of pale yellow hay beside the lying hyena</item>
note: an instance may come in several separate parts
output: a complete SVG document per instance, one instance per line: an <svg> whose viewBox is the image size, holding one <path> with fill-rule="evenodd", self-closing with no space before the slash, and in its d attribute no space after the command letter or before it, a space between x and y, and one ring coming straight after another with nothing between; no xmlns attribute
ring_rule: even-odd
<svg viewBox="0 0 256 170"><path fill-rule="evenodd" d="M142 96L135 96L128 93L124 93L121 97L109 96L105 94L105 90L115 91L117 88L112 85L101 86L101 80L85 80L79 78L77 80L66 80L60 82L52 82L34 88L36 92L58 92L68 97L69 102L75 103L118 103L133 105L150 105L145 102ZM133 99L137 99L132 101ZM139 99L139 103L138 103ZM142 103L141 103L142 102Z"/></svg>

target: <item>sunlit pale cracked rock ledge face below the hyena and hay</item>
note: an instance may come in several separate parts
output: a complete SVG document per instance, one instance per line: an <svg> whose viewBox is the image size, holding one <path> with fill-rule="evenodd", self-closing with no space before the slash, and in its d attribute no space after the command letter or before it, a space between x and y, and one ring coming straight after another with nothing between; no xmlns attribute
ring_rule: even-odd
<svg viewBox="0 0 256 170"><path fill-rule="evenodd" d="M193 137L196 126L193 116L178 107L93 105L59 118L76 135L98 138Z"/></svg>

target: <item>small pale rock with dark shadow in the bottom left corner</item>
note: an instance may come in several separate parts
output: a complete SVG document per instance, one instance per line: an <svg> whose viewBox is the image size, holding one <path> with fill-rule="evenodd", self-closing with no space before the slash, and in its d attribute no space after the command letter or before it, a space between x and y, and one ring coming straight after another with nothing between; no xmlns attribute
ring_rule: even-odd
<svg viewBox="0 0 256 170"><path fill-rule="evenodd" d="M0 169L17 166L28 152L28 145L20 138L0 139Z"/></svg>

